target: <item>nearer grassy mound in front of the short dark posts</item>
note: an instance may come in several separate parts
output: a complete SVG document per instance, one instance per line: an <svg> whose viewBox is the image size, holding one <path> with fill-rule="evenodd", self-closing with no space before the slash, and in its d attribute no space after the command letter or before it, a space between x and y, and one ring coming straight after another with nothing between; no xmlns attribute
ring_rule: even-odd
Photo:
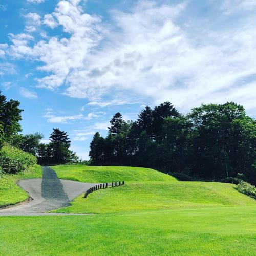
<svg viewBox="0 0 256 256"><path fill-rule="evenodd" d="M97 190L87 199L76 198L71 206L55 212L121 212L147 209L204 206L254 205L256 201L234 185L216 182L129 182Z"/></svg>

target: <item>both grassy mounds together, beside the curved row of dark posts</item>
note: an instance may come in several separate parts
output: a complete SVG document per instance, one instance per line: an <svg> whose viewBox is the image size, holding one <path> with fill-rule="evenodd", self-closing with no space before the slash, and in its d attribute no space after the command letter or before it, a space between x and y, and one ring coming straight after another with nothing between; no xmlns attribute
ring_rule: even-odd
<svg viewBox="0 0 256 256"><path fill-rule="evenodd" d="M87 199L76 198L56 212L123 212L179 207L254 205L233 184L181 182L153 169L119 166L54 166L59 178L81 182L130 180L124 186L98 190ZM132 181L131 181L132 180Z"/></svg>

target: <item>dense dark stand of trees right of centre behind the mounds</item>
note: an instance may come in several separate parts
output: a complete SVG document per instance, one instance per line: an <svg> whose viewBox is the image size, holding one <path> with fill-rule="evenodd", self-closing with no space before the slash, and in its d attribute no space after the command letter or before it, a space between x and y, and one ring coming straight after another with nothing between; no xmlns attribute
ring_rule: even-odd
<svg viewBox="0 0 256 256"><path fill-rule="evenodd" d="M137 121L116 113L108 136L94 135L90 157L92 165L152 167L183 180L255 184L256 120L233 102L201 105L187 115L170 102L146 106Z"/></svg>

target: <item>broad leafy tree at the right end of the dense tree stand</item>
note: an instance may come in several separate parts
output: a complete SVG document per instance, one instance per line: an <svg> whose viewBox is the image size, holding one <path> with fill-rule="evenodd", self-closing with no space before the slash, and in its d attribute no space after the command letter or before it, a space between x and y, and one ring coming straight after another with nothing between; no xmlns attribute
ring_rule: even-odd
<svg viewBox="0 0 256 256"><path fill-rule="evenodd" d="M204 178L236 177L252 168L256 158L255 120L233 102L192 109L194 124L191 169Z"/></svg>

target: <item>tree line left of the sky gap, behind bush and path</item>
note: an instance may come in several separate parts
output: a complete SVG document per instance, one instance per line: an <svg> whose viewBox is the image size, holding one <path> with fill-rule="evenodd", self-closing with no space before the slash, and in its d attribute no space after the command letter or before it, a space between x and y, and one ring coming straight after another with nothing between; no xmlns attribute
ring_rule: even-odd
<svg viewBox="0 0 256 256"><path fill-rule="evenodd" d="M4 144L16 147L37 157L39 164L63 164L82 162L76 153L70 150L70 139L66 132L53 129L49 143L41 143L44 135L40 133L21 134L23 110L17 100L7 101L0 91L0 150Z"/></svg>

